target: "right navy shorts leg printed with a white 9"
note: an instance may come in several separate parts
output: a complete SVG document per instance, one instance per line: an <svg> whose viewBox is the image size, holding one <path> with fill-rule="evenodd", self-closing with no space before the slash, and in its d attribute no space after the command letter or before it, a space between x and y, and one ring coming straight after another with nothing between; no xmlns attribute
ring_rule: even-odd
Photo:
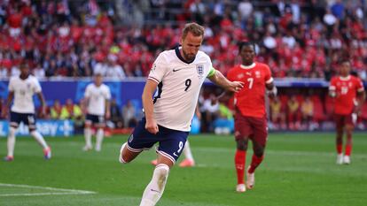
<svg viewBox="0 0 367 206"><path fill-rule="evenodd" d="M163 130L163 131L161 131ZM183 152L189 132L171 130L168 128L160 128L160 146L157 152L161 156L167 157L173 164Z"/></svg>

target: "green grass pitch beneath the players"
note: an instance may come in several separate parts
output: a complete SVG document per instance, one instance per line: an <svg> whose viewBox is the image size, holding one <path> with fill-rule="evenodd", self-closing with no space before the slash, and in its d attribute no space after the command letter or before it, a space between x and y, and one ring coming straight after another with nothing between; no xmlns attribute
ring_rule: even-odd
<svg viewBox="0 0 367 206"><path fill-rule="evenodd" d="M155 152L145 151L121 165L118 155L126 140L127 136L105 139L98 153L82 151L82 136L47 138L53 156L45 161L33 139L18 138L15 160L0 162L0 205L138 205L152 177ZM354 135L350 165L335 164L332 133L269 134L256 185L244 194L235 192L232 136L197 135L190 141L198 166L175 166L157 205L367 205L366 133ZM6 139L0 138L0 155L5 154Z"/></svg>

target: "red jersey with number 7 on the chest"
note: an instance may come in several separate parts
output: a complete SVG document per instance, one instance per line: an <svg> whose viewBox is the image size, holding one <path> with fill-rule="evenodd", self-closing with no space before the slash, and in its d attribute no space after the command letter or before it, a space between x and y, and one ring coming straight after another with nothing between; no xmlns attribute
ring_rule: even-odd
<svg viewBox="0 0 367 206"><path fill-rule="evenodd" d="M244 82L244 88L235 94L235 105L244 116L263 118L265 111L265 85L273 81L268 65L237 65L227 74L228 80Z"/></svg>

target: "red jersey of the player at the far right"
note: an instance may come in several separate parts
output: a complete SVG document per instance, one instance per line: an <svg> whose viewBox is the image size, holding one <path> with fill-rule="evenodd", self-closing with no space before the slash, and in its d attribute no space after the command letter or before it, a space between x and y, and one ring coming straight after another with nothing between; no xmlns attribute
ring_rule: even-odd
<svg viewBox="0 0 367 206"><path fill-rule="evenodd" d="M355 76L333 77L330 81L330 91L335 91L335 114L347 115L353 112L357 92L364 90L362 80Z"/></svg>

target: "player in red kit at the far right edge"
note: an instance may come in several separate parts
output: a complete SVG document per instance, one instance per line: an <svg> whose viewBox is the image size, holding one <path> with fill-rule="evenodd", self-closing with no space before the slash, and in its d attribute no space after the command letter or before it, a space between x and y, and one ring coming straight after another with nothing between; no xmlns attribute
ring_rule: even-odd
<svg viewBox="0 0 367 206"><path fill-rule="evenodd" d="M363 82L349 74L350 63L340 62L340 75L333 77L329 86L329 95L334 98L334 120L336 127L337 164L350 164L352 151L352 133L357 114L361 111L365 94ZM345 156L343 156L343 133L347 134Z"/></svg>

